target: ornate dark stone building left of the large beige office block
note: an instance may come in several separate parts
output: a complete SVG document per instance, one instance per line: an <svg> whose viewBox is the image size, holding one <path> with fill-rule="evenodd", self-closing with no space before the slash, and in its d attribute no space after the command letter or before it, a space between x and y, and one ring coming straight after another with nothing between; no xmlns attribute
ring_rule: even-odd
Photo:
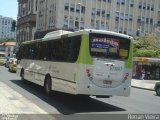
<svg viewBox="0 0 160 120"><path fill-rule="evenodd" d="M38 0L18 0L17 43L34 39Z"/></svg>

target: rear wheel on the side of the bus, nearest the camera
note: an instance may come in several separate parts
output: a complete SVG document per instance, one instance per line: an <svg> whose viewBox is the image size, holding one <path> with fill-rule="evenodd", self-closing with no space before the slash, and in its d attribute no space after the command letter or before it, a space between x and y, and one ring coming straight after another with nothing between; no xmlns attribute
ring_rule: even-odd
<svg viewBox="0 0 160 120"><path fill-rule="evenodd" d="M50 77L46 77L45 78L45 83L44 83L44 90L45 90L45 93L47 95L49 95L51 93L51 78Z"/></svg>

